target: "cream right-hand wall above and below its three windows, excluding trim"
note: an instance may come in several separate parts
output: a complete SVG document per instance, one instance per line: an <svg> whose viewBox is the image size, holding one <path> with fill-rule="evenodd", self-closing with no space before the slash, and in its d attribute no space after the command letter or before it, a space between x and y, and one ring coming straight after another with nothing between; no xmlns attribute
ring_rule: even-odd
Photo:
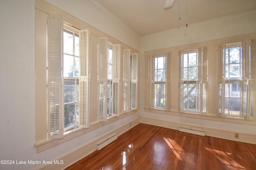
<svg viewBox="0 0 256 170"><path fill-rule="evenodd" d="M168 31L163 31L160 33L155 33L152 35L146 35L141 38L141 48L140 48L140 75L141 77L148 76L145 73L145 52L146 51L166 51L165 49L171 47L178 47L182 45L190 45L194 43L200 43L204 41L212 41L216 39L222 39L226 37L233 37L238 35L245 35L249 33L256 33L256 11L248 11L236 15L230 15L222 18L216 18L213 20L204 21L201 23L195 23L188 25L188 27L180 27L177 29L172 29ZM254 35L255 36L255 35ZM202 44L202 43L201 43ZM162 49L162 50L161 50ZM212 63L209 63L212 64ZM211 65L212 66L212 65ZM141 81L141 89L147 86L145 81ZM175 84L171 84L176 86ZM178 85L177 85L178 86ZM195 126L209 127L224 129L233 132L242 132L256 135L256 122L250 122L250 125L238 124L238 123L227 123L225 119L219 119L221 121L212 121L210 117L204 119L194 119L191 116L182 117L166 113L152 113L146 112L144 110L145 102L145 92L140 91L140 115L142 117L153 118L157 120L173 121L176 123L186 123ZM172 98L172 97L171 97ZM178 107L178 106L175 106ZM214 106L210 106L213 108ZM216 108L216 107L215 107ZM207 120L208 119L208 120ZM145 121L146 122L146 121ZM158 124L159 125L159 124Z"/></svg>

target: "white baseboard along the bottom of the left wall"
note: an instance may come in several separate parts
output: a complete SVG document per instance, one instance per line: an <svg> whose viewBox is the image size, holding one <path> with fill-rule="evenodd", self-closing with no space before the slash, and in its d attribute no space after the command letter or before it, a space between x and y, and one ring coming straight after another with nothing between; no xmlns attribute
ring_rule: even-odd
<svg viewBox="0 0 256 170"><path fill-rule="evenodd" d="M115 129L112 131L109 131L108 133L103 134L102 136L98 137L97 139L94 139L93 141L84 144L82 147L79 147L72 152L68 152L65 155L62 155L58 158L55 158L54 160L59 160L59 162L63 162L63 164L45 164L43 166L39 166L36 168L36 170L62 170L67 168L68 166L76 163L78 160L84 158L88 154L94 152L96 150L96 145L103 139L106 139L110 134L116 133L118 136L121 135L122 133L128 131L132 127L138 125L140 123L140 117L137 117ZM52 160L52 162L54 162Z"/></svg>

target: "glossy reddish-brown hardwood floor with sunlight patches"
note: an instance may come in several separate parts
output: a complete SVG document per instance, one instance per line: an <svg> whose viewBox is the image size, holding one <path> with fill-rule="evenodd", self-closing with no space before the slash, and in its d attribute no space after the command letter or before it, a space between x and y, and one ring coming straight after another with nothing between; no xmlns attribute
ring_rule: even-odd
<svg viewBox="0 0 256 170"><path fill-rule="evenodd" d="M256 170L256 145L138 124L66 170Z"/></svg>

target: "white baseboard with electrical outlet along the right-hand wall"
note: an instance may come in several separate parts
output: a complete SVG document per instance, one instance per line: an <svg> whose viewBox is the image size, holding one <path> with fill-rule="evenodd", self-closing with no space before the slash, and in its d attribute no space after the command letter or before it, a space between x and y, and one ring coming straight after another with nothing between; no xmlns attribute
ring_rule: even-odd
<svg viewBox="0 0 256 170"><path fill-rule="evenodd" d="M196 126L182 122L168 121L163 119L157 119L154 117L140 117L140 123L155 125L159 127L166 127L169 129L179 130L180 127L187 129L194 129L197 131L204 131L206 136L217 137L220 139L227 139L231 141L244 142L256 145L256 135L249 133L241 133L235 131L228 131L226 129L218 129L206 126ZM239 134L239 138L235 138L235 133Z"/></svg>

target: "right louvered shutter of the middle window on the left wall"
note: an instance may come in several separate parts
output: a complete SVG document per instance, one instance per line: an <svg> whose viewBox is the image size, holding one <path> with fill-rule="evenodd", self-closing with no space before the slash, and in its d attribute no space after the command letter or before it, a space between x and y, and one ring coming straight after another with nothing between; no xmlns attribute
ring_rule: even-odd
<svg viewBox="0 0 256 170"><path fill-rule="evenodd" d="M113 45L113 101L112 115L119 116L119 91L120 91L120 60L121 60L121 45Z"/></svg>

